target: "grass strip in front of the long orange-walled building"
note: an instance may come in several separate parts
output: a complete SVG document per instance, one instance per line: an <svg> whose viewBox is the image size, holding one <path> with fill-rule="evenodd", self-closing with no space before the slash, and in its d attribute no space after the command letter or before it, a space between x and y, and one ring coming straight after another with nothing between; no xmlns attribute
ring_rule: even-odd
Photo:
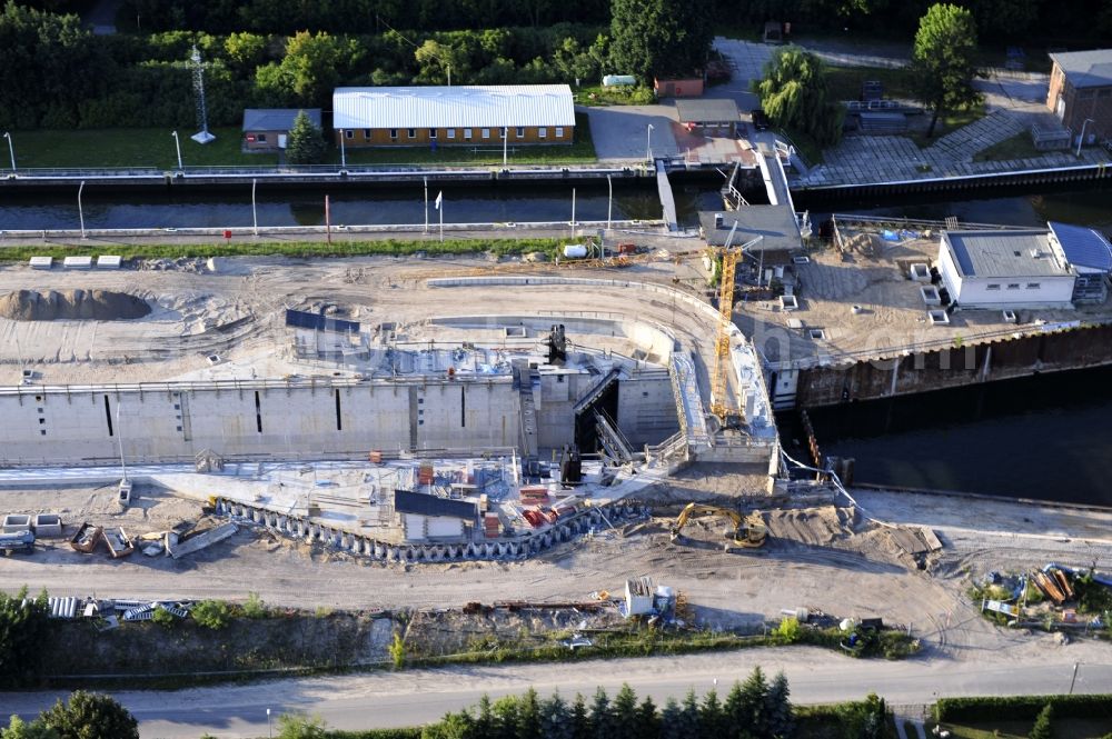
<svg viewBox="0 0 1112 739"><path fill-rule="evenodd" d="M495 131L492 131L495 133ZM559 146L515 146L509 141L508 161L513 164L575 164L597 161L595 143L590 139L590 122L586 113L575 114L575 141ZM330 149L328 162L338 164L339 149ZM502 164L502 140L470 147L439 147L435 151L425 147L376 148L347 150L349 164Z"/></svg>

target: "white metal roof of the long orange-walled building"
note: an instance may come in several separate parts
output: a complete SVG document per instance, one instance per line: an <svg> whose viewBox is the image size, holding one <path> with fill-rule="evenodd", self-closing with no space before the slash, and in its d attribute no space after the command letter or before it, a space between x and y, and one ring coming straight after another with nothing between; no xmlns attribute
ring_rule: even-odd
<svg viewBox="0 0 1112 739"><path fill-rule="evenodd" d="M507 84L336 88L337 129L575 126L572 88Z"/></svg>

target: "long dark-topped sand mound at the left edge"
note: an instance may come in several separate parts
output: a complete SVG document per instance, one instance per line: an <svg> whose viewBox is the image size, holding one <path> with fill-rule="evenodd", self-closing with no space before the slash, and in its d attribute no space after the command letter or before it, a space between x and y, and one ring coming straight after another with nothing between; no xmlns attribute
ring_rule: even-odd
<svg viewBox="0 0 1112 739"><path fill-rule="evenodd" d="M150 306L142 298L108 290L64 290L38 292L19 290L0 298L0 316L17 321L87 319L127 321L142 318Z"/></svg>

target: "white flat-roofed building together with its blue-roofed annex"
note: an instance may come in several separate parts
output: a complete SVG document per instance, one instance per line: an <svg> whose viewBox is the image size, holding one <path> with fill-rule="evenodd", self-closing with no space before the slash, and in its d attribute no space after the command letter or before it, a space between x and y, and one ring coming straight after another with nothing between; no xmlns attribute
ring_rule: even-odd
<svg viewBox="0 0 1112 739"><path fill-rule="evenodd" d="M1106 298L1112 246L1098 231L1063 223L944 231L937 268L959 308L1072 308Z"/></svg>

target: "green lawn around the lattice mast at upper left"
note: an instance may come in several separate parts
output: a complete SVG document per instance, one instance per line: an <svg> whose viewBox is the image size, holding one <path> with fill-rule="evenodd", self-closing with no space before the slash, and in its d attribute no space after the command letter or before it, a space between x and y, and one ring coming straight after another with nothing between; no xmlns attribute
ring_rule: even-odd
<svg viewBox="0 0 1112 739"><path fill-rule="evenodd" d="M245 154L238 128L212 129L216 141L200 144L189 137L192 128L179 129L181 160L186 167L274 167L276 154ZM172 170L178 156L170 129L116 128L89 130L14 131L16 164L39 167L157 167Z"/></svg>

